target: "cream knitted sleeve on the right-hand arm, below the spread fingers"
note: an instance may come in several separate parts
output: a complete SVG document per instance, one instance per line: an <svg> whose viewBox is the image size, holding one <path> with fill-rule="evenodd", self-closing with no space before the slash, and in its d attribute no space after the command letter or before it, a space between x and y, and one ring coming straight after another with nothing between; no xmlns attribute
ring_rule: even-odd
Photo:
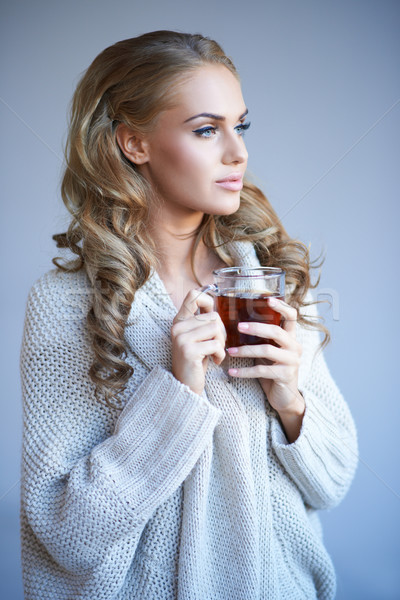
<svg viewBox="0 0 400 600"><path fill-rule="evenodd" d="M315 307L309 307L316 316ZM304 358L309 362L299 390L306 410L300 435L289 444L278 419L272 445L304 500L316 509L336 506L348 491L358 462L357 435L350 410L318 349L316 331L303 330Z"/></svg>

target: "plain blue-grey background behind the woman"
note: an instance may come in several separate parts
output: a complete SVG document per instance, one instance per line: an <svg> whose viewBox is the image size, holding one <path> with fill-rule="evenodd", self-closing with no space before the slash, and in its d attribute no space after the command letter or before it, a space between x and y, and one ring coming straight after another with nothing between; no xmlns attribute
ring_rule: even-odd
<svg viewBox="0 0 400 600"><path fill-rule="evenodd" d="M215 37L242 76L249 170L285 227L326 261L328 362L361 462L323 514L339 599L400 597L397 269L399 14L390 0L13 1L2 4L0 596L22 598L18 359L32 283L51 268L67 106L103 48L154 29Z"/></svg>

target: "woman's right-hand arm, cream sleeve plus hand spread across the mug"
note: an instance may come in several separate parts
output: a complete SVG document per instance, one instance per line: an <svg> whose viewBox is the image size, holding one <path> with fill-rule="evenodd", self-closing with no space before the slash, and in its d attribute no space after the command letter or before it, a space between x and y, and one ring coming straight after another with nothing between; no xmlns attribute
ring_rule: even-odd
<svg viewBox="0 0 400 600"><path fill-rule="evenodd" d="M309 296L307 300L311 300ZM257 377L277 417L272 445L286 472L314 508L336 505L347 492L357 465L357 438L350 411L319 350L319 335L296 324L296 311L276 301L283 328L244 324L260 344L229 349L234 356L254 357L255 365L230 369L235 377ZM307 315L317 318L315 305Z"/></svg>

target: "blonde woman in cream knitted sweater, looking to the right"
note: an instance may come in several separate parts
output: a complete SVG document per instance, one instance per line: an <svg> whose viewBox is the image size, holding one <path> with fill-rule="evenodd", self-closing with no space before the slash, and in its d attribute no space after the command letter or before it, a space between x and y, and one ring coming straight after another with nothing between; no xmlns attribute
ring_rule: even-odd
<svg viewBox="0 0 400 600"><path fill-rule="evenodd" d="M246 119L200 35L119 42L77 87L54 236L77 258L33 286L21 356L27 598L334 597L316 510L348 490L355 430L307 250L243 180ZM282 327L239 324L260 345L226 352L198 289L235 264L289 293Z"/></svg>

